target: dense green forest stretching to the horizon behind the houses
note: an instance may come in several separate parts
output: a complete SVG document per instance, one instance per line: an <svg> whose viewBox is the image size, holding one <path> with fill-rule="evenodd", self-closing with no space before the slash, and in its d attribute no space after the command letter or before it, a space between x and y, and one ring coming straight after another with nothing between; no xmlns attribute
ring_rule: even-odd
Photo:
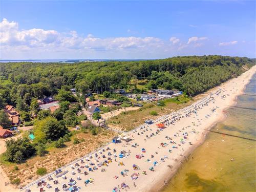
<svg viewBox="0 0 256 192"><path fill-rule="evenodd" d="M33 99L55 95L74 101L70 88L80 93L113 92L130 88L133 79L148 79L148 88L180 89L201 93L231 77L255 61L246 57L185 56L146 61L79 63L0 63L0 107L6 103L28 111Z"/></svg>

